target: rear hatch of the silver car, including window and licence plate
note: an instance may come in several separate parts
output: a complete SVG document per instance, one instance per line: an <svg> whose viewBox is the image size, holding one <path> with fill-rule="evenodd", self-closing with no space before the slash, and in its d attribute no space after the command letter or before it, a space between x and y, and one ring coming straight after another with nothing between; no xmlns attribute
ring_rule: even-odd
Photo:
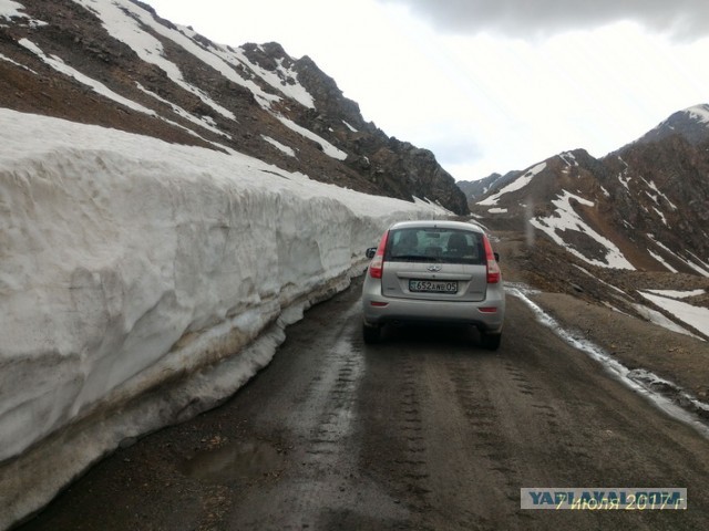
<svg viewBox="0 0 709 531"><path fill-rule="evenodd" d="M399 299L485 300L487 268L480 232L407 228L390 233L382 295Z"/></svg>

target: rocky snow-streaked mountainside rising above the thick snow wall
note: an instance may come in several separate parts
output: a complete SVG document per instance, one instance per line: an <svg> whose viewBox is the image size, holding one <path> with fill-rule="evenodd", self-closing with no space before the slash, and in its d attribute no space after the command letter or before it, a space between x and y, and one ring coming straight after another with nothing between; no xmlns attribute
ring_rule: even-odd
<svg viewBox="0 0 709 531"><path fill-rule="evenodd" d="M434 155L387 136L308 56L228 46L137 0L0 4L0 105L251 155L368 194L466 214Z"/></svg>

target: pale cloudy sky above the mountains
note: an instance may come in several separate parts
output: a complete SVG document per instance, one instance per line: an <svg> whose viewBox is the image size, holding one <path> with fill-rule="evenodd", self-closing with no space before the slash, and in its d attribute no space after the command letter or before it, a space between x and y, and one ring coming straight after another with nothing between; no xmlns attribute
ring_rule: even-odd
<svg viewBox="0 0 709 531"><path fill-rule="evenodd" d="M458 180L604 156L709 103L707 0L146 0L223 44L309 55Z"/></svg>

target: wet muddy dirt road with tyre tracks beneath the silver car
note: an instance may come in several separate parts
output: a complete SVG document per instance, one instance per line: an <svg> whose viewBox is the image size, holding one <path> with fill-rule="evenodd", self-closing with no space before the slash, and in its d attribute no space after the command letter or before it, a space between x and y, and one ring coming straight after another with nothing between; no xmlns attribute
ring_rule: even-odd
<svg viewBox="0 0 709 531"><path fill-rule="evenodd" d="M507 296L474 331L360 337L360 283L288 329L222 407L103 460L39 530L706 529L709 440ZM522 510L525 487L674 487L688 509Z"/></svg>

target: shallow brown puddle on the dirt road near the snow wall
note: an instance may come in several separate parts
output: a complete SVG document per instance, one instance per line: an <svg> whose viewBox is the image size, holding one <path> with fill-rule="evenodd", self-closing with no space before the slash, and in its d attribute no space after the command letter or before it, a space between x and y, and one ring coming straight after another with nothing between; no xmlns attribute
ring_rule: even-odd
<svg viewBox="0 0 709 531"><path fill-rule="evenodd" d="M264 477L284 464L284 454L267 442L238 441L197 452L182 464L181 471L199 481L228 483Z"/></svg>

